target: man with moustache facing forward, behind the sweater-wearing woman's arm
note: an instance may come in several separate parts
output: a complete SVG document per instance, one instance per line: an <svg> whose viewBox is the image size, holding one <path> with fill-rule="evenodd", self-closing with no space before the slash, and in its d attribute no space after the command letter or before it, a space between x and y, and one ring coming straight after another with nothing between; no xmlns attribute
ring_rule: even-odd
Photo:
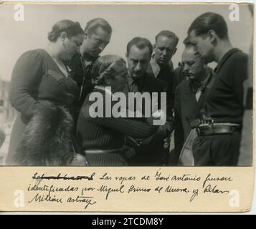
<svg viewBox="0 0 256 229"><path fill-rule="evenodd" d="M168 88L166 82L156 79L146 72L152 51L153 47L148 39L135 37L131 42L128 42L126 59L129 75L128 84L124 92L149 92L151 96L152 92L166 92ZM160 102L159 100L158 105ZM130 144L130 146L132 145L135 148L136 155L131 158L130 165L163 165L163 159L168 154L168 150L163 148L166 137L165 131L166 128L163 127L162 131L159 131L148 141L133 141L135 145Z"/></svg>

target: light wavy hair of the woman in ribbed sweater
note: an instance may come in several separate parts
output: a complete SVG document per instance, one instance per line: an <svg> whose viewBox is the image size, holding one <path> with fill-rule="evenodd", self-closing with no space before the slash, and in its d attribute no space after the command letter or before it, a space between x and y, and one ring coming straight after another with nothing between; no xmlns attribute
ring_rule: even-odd
<svg viewBox="0 0 256 229"><path fill-rule="evenodd" d="M94 85L104 85L105 77L115 77L126 68L125 60L117 55L104 55L99 57L93 64Z"/></svg>

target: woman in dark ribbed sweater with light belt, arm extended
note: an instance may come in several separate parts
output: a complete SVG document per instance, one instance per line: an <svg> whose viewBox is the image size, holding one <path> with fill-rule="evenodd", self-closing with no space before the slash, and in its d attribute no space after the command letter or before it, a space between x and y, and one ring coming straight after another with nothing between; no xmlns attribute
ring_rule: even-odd
<svg viewBox="0 0 256 229"><path fill-rule="evenodd" d="M124 147L125 136L143 140L151 137L158 129L152 124L153 118L146 120L117 117L118 115L107 115L104 112L108 102L115 97L114 93L122 92L127 83L127 74L125 61L115 55L99 57L93 66L93 81L96 86L85 99L77 122L77 139L82 145L89 165L127 165L131 151ZM95 95L103 97L102 117L92 112L95 103L92 97ZM108 108L113 110L114 104L115 102L112 102Z"/></svg>

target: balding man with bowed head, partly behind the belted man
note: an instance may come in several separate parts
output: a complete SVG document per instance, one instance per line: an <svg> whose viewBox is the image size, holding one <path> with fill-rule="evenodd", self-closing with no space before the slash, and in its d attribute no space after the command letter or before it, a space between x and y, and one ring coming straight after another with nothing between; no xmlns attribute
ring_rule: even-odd
<svg viewBox="0 0 256 229"><path fill-rule="evenodd" d="M183 75L188 77L176 88L175 112L175 150L171 155L171 165L176 165L181 149L191 131L191 122L196 118L196 113L203 107L205 87L212 79L212 69L207 67L194 48L188 46L182 54L184 64Z"/></svg>

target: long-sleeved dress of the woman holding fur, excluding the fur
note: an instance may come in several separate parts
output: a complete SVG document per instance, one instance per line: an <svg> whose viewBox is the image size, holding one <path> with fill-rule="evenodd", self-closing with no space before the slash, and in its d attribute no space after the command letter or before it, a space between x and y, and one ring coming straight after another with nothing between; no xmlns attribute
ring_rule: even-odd
<svg viewBox="0 0 256 229"><path fill-rule="evenodd" d="M70 112L78 93L76 82L60 71L44 49L25 52L16 62L11 76L9 100L19 113L11 132L7 164L14 163L18 153L16 147L42 101L64 106Z"/></svg>

